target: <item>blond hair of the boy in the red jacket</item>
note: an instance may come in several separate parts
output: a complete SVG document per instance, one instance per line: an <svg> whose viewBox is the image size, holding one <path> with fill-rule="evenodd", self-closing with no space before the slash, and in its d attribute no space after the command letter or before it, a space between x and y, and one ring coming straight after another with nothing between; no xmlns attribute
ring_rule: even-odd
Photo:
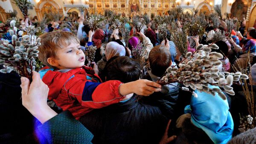
<svg viewBox="0 0 256 144"><path fill-rule="evenodd" d="M48 62L49 57L57 59L56 51L59 48L65 48L72 42L78 43L79 39L72 33L67 31L52 31L40 36L41 45L38 47L38 58L44 65L53 68Z"/></svg>

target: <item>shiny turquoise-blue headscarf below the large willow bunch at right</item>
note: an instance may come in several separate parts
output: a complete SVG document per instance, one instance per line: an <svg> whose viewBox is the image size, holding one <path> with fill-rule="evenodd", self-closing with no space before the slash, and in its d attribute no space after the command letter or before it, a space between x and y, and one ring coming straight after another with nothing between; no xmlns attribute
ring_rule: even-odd
<svg viewBox="0 0 256 144"><path fill-rule="evenodd" d="M218 88L210 85L209 88ZM195 90L198 98L191 97L190 105L185 107L185 113L191 113L191 122L201 128L215 144L227 144L232 138L234 123L230 114L227 99L223 100L218 93Z"/></svg>

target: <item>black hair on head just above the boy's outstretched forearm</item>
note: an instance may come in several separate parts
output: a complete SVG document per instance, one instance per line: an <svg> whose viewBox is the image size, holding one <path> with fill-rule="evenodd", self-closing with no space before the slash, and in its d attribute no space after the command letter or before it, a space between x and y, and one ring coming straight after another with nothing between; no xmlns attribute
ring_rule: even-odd
<svg viewBox="0 0 256 144"><path fill-rule="evenodd" d="M106 80L127 83L140 79L140 64L128 56L119 56L106 65Z"/></svg>

